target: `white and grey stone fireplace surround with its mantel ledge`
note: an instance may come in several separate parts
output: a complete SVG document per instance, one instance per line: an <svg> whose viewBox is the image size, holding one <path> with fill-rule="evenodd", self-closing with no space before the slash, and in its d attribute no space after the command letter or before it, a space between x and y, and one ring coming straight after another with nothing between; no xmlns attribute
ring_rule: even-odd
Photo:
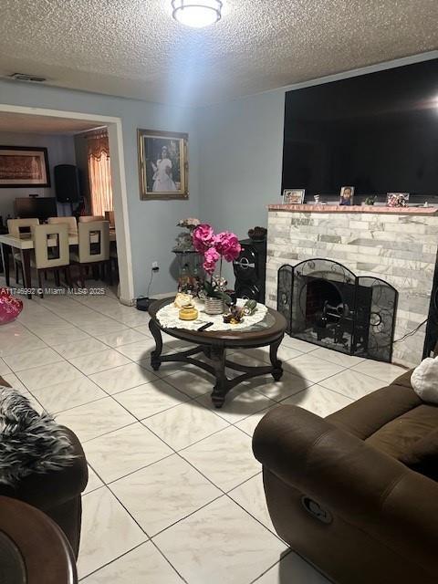
<svg viewBox="0 0 438 584"><path fill-rule="evenodd" d="M327 258L399 292L395 339L428 317L438 252L438 208L272 204L268 207L266 304L276 308L280 266ZM392 360L422 360L423 325L394 345Z"/></svg>

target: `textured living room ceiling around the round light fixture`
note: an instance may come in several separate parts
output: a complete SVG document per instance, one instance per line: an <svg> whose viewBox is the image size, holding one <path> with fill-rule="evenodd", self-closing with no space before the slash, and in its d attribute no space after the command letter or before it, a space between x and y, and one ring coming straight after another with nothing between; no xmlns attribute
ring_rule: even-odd
<svg viewBox="0 0 438 584"><path fill-rule="evenodd" d="M0 75L205 104L438 47L437 0L224 0L201 30L171 0L1 0Z"/></svg>

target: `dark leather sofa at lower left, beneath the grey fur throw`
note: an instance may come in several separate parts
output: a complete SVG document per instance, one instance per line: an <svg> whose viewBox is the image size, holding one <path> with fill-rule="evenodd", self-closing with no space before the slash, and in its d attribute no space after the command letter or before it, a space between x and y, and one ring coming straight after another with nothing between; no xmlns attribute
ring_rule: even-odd
<svg viewBox="0 0 438 584"><path fill-rule="evenodd" d="M0 377L0 385L8 384ZM0 495L20 499L44 511L57 523L68 538L75 558L78 558L81 493L89 480L89 471L82 446L76 434L65 428L77 458L74 463L58 471L30 474L16 488L0 485ZM1 508L0 508L1 513Z"/></svg>

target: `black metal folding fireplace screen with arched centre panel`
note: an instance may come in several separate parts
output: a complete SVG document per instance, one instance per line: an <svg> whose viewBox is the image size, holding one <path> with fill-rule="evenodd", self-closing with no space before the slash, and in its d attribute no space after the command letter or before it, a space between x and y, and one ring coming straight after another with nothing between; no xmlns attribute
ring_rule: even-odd
<svg viewBox="0 0 438 584"><path fill-rule="evenodd" d="M397 296L380 278L328 259L278 270L277 310L289 335L349 355L391 361Z"/></svg>

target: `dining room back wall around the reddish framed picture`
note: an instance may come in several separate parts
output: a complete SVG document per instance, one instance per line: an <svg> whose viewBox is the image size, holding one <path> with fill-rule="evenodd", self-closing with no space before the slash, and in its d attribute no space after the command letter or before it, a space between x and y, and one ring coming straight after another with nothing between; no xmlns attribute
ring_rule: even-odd
<svg viewBox="0 0 438 584"><path fill-rule="evenodd" d="M5 221L8 214L14 216L14 201L16 197L26 197L30 193L37 193L40 197L55 196L55 180L53 168L57 164L75 164L75 146L73 136L55 134L25 134L0 132L2 146L42 146L47 148L48 167L50 170L50 187L5 189L0 188L0 215Z"/></svg>

